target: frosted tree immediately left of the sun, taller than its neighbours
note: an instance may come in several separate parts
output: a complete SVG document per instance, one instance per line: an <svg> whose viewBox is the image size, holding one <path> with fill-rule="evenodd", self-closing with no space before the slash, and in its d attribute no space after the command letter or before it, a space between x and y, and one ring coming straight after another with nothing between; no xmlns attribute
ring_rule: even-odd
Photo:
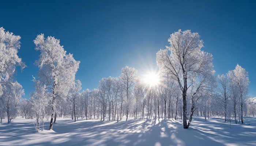
<svg viewBox="0 0 256 146"><path fill-rule="evenodd" d="M136 70L135 68L129 68L128 66L125 66L125 68L121 69L120 79L123 82L123 89L126 95L126 121L128 119L129 106L131 103L131 92L134 84L136 83L136 80L139 79L137 72L138 70Z"/></svg>

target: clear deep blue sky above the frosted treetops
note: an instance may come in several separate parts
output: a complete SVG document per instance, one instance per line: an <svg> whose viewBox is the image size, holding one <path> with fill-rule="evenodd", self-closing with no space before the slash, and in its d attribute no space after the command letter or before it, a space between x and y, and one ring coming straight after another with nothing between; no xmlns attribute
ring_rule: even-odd
<svg viewBox="0 0 256 146"><path fill-rule="evenodd" d="M0 27L21 37L19 57L27 68L17 80L25 98L33 90L32 75L39 52L38 34L60 39L74 54L80 68L76 78L82 89L98 87L102 77L118 77L126 65L140 76L157 70L155 54L169 46L178 29L198 32L204 51L212 53L216 75L237 64L249 72L249 95L256 96L256 1L86 1L0 0Z"/></svg>

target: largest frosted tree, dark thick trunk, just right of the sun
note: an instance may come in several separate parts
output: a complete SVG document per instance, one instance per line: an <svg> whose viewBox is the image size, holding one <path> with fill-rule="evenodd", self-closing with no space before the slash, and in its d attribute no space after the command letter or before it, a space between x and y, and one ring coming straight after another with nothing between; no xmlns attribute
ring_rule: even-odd
<svg viewBox="0 0 256 146"><path fill-rule="evenodd" d="M188 128L192 120L195 107L191 107L191 117L187 124L187 92L191 89L191 96L202 97L200 91L208 88L209 79L214 74L212 55L201 51L203 41L199 39L198 33L191 33L190 30L174 32L170 35L168 50L157 52L157 65L159 70L178 82L183 99L183 127ZM194 101L192 100L192 103ZM193 105L193 104L192 104Z"/></svg>

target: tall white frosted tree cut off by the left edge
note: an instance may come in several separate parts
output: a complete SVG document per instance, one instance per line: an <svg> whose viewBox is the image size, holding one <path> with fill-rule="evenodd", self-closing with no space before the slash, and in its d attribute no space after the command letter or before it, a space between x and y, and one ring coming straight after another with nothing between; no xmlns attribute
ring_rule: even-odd
<svg viewBox="0 0 256 146"><path fill-rule="evenodd" d="M16 99L23 95L23 93L21 93L23 91L21 89L22 86L17 81L13 80L15 67L20 66L21 70L26 67L21 61L21 58L17 55L18 49L20 49L19 40L20 36L16 36L9 31L6 32L3 27L0 27L0 119L2 119L4 113L7 112L8 123L11 121L11 116L15 117L16 115L16 113L14 113L18 104ZM20 92L21 94L20 96L14 95L14 97L11 97L8 93L13 92Z"/></svg>

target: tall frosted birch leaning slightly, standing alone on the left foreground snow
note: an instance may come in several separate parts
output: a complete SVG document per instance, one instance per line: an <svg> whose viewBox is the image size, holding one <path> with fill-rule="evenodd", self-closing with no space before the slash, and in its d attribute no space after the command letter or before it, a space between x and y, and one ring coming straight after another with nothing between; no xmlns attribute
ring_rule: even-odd
<svg viewBox="0 0 256 146"><path fill-rule="evenodd" d="M44 34L40 34L34 43L35 50L41 52L40 58L35 61L35 65L39 67L37 76L51 93L52 114L49 130L52 130L57 104L67 97L70 85L74 84L80 61L76 61L72 54L66 54L63 46L60 46L60 40L54 37L45 39Z"/></svg>

